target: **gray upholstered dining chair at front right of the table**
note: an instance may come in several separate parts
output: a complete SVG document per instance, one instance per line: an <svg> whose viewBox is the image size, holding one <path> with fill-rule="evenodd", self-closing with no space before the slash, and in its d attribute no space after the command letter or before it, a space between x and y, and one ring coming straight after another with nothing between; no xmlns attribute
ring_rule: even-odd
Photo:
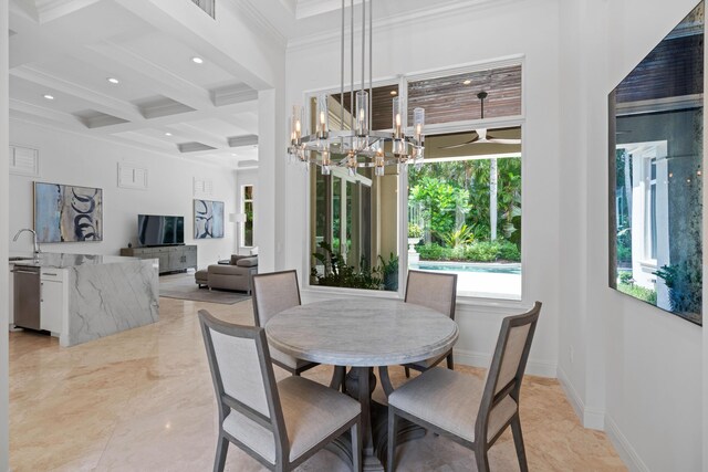
<svg viewBox="0 0 708 472"><path fill-rule="evenodd" d="M388 471L396 470L399 418L475 451L477 469L489 471L487 451L511 426L521 471L528 471L519 391L541 303L503 319L487 379L448 369L429 369L388 396Z"/></svg>

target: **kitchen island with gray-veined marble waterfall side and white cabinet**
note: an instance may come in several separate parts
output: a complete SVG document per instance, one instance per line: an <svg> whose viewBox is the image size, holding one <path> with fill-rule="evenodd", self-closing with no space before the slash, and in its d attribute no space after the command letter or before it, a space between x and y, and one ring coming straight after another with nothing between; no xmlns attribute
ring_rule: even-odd
<svg viewBox="0 0 708 472"><path fill-rule="evenodd" d="M39 327L29 327L51 332L62 346L158 321L157 260L63 253L22 258L10 258L11 270L39 269L40 275Z"/></svg>

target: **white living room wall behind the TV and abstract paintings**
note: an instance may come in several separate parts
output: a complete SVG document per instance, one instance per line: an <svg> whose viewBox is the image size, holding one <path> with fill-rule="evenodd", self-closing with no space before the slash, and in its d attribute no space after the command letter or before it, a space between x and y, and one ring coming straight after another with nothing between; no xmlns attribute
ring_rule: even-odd
<svg viewBox="0 0 708 472"><path fill-rule="evenodd" d="M231 169L197 164L178 157L163 156L137 147L116 145L38 125L11 120L10 141L40 150L38 178L10 177L11 239L20 228L32 228L32 181L79 185L103 189L103 241L42 244L44 252L69 252L117 255L128 242L137 245L137 214L176 214L185 217L185 243L198 245L198 264L206 266L228 258L236 244L235 224L228 214L236 211L236 172ZM118 162L148 169L148 190L118 188ZM225 238L194 239L195 177L211 179L214 196L204 197L225 202ZM31 237L22 234L10 242L11 251L31 251Z"/></svg>

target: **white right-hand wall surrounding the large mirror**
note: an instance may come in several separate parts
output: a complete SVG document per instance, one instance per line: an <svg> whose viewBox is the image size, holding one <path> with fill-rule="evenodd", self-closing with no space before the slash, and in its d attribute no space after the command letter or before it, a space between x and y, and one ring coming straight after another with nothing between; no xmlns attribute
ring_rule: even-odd
<svg viewBox="0 0 708 472"><path fill-rule="evenodd" d="M695 1L559 3L561 279L577 281L561 295L559 376L631 470L699 470L701 328L607 286L607 94Z"/></svg>

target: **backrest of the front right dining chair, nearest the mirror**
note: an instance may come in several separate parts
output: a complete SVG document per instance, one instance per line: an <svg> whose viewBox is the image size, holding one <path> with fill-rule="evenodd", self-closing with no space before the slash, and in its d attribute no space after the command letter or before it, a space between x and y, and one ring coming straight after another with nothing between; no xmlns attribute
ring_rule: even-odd
<svg viewBox="0 0 708 472"><path fill-rule="evenodd" d="M475 424L475 440L487 440L487 431L497 407L502 401L509 405L509 397L519 402L519 390L527 367L531 342L541 312L541 302L535 302L529 312L508 316L501 323L494 356L487 373L485 391ZM513 405L513 403L511 403Z"/></svg>

